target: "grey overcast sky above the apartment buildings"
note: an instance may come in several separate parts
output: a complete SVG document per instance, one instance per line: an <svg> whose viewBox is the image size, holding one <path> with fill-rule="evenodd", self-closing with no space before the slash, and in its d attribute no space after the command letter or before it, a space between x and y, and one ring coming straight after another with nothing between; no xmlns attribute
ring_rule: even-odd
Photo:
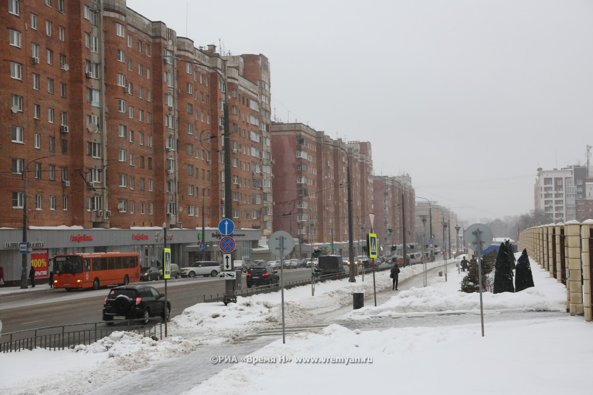
<svg viewBox="0 0 593 395"><path fill-rule="evenodd" d="M128 0L196 46L262 53L272 118L369 141L375 175L486 222L534 208L537 168L586 163L593 2Z"/></svg>

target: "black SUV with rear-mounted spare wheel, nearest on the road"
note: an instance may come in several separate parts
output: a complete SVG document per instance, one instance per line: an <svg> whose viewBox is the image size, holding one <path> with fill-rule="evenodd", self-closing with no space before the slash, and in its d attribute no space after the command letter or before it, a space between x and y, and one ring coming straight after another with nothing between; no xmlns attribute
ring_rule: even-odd
<svg viewBox="0 0 593 395"><path fill-rule="evenodd" d="M171 314L171 301L167 299L167 317ZM111 288L103 302L103 321L165 318L165 295L150 285L122 285Z"/></svg>

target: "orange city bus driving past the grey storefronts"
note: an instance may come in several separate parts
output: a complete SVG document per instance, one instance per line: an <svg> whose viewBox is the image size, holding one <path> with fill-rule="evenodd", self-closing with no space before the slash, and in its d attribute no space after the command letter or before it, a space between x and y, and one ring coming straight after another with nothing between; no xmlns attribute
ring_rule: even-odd
<svg viewBox="0 0 593 395"><path fill-rule="evenodd" d="M53 287L72 291L140 280L138 252L93 252L55 255Z"/></svg>

